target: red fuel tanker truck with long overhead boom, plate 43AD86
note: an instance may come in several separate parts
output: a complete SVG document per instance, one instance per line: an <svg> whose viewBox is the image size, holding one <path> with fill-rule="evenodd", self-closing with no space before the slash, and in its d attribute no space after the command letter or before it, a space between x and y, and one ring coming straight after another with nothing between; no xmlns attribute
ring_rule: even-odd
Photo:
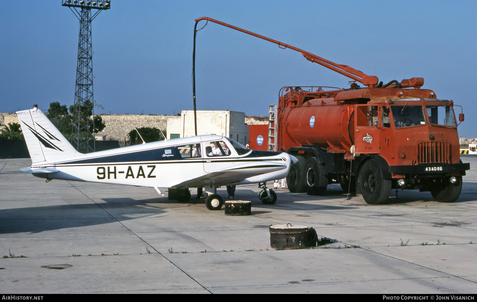
<svg viewBox="0 0 477 302"><path fill-rule="evenodd" d="M200 20L296 50L353 79L346 89L280 90L275 150L299 160L287 176L290 192L321 195L328 184L340 183L345 192L361 193L373 205L386 201L392 189L428 191L439 202L459 197L462 176L470 166L460 160L454 103L421 89L423 78L378 83L376 76L223 22L203 17L196 20L196 27ZM464 114L458 120L462 122Z"/></svg>

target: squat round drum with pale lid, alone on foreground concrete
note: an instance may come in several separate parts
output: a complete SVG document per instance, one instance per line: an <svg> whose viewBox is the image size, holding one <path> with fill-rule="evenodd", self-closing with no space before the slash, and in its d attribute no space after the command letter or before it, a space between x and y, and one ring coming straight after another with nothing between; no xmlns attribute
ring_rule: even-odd
<svg viewBox="0 0 477 302"><path fill-rule="evenodd" d="M309 227L270 225L270 246L277 249L308 248L312 241Z"/></svg>

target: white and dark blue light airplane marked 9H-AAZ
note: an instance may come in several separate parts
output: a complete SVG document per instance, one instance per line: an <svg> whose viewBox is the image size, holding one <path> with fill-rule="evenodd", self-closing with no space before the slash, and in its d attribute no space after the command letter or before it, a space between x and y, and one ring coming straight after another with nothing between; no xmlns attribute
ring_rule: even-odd
<svg viewBox="0 0 477 302"><path fill-rule="evenodd" d="M36 177L168 188L168 198L187 201L189 188L205 187L209 210L222 207L217 187L258 183L259 199L274 204L266 182L286 177L298 160L287 153L253 151L221 135L198 135L83 154L38 109L17 112L31 156L21 171Z"/></svg>

